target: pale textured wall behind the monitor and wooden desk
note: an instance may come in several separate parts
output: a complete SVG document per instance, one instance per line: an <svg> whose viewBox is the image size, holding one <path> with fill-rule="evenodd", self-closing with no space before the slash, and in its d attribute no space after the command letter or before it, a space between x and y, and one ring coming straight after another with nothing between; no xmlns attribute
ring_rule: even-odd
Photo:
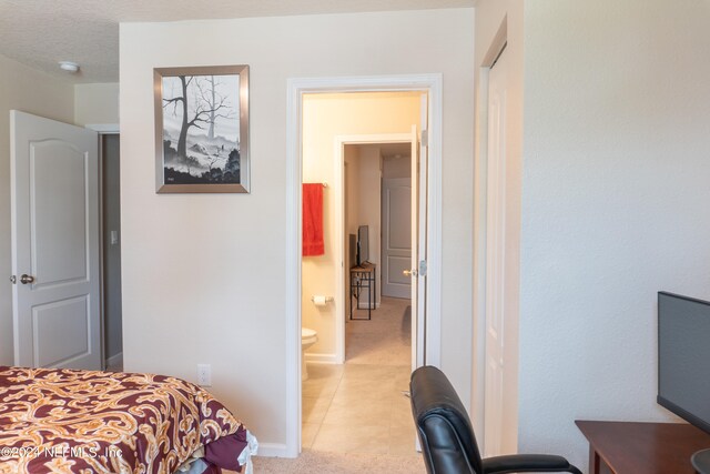
<svg viewBox="0 0 710 474"><path fill-rule="evenodd" d="M710 3L527 1L519 448L668 420L656 293L710 299Z"/></svg>

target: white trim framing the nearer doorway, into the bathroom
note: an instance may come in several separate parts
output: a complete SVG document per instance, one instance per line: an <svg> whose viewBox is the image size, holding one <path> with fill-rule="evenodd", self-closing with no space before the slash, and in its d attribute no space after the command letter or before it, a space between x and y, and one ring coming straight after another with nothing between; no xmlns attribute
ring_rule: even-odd
<svg viewBox="0 0 710 474"><path fill-rule="evenodd" d="M328 92L426 92L428 113L427 186L427 364L442 355L442 123L443 77L434 74L288 79L286 98L286 445L284 455L301 452L301 182L303 95Z"/></svg>

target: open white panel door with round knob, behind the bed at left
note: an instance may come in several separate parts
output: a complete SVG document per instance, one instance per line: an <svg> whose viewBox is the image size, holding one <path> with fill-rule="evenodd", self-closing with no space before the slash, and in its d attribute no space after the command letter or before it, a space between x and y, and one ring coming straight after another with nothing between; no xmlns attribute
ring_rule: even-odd
<svg viewBox="0 0 710 474"><path fill-rule="evenodd" d="M14 364L101 369L99 143L10 112Z"/></svg>

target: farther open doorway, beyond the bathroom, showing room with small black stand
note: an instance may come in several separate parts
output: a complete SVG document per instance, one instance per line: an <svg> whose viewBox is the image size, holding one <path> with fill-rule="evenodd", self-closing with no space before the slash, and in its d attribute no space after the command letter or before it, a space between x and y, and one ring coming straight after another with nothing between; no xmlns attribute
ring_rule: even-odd
<svg viewBox="0 0 710 474"><path fill-rule="evenodd" d="M345 363L412 366L409 142L344 148ZM365 243L363 243L365 242ZM366 249L361 249L361 245ZM358 258L359 255L359 258ZM364 268L375 283L359 285Z"/></svg>

